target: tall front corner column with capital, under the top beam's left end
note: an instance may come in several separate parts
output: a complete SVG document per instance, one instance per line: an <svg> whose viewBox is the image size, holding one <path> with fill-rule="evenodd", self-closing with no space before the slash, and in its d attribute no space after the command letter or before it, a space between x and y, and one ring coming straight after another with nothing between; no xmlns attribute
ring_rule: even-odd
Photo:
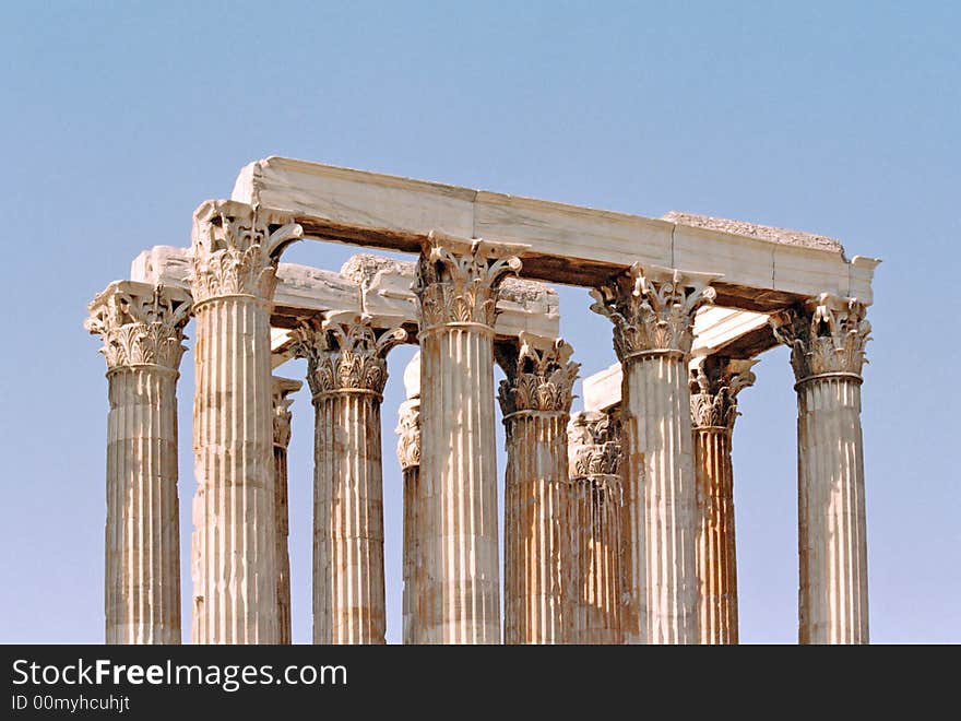
<svg viewBox="0 0 961 721"><path fill-rule="evenodd" d="M297 225L207 201L193 218L193 642L276 643L270 312Z"/></svg>

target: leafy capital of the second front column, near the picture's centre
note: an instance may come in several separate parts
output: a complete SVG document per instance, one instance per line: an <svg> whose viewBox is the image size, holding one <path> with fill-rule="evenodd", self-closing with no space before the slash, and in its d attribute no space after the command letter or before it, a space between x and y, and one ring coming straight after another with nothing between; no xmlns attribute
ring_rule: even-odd
<svg viewBox="0 0 961 721"><path fill-rule="evenodd" d="M521 248L430 233L413 286L420 306L420 329L447 323L494 328L500 282L521 270L520 259L512 255Z"/></svg>

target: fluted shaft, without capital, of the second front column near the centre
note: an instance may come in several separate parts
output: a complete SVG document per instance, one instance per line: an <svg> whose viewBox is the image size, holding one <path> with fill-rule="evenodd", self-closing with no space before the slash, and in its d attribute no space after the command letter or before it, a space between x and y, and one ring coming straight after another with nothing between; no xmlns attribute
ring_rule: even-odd
<svg viewBox="0 0 961 721"><path fill-rule="evenodd" d="M428 643L500 642L493 341L479 326L422 334Z"/></svg>

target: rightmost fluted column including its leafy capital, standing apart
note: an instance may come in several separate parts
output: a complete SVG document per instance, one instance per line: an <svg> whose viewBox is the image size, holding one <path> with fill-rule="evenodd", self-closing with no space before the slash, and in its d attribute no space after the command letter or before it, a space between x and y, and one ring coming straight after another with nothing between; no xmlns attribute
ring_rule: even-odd
<svg viewBox="0 0 961 721"><path fill-rule="evenodd" d="M802 643L867 643L861 383L870 324L856 299L822 294L773 320L797 383Z"/></svg>

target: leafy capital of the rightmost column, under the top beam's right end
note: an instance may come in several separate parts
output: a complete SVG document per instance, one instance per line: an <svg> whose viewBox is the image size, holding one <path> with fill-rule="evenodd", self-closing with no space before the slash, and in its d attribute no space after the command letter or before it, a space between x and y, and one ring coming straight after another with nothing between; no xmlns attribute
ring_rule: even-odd
<svg viewBox="0 0 961 721"><path fill-rule="evenodd" d="M870 340L867 307L856 298L822 293L803 311L786 310L771 318L774 338L791 348L797 382L823 375L861 377Z"/></svg>

